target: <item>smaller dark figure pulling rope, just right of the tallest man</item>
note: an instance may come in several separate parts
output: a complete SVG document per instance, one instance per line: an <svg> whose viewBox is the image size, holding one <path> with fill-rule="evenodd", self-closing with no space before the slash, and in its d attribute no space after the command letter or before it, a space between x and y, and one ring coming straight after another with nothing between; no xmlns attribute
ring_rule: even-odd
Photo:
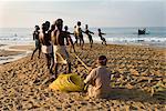
<svg viewBox="0 0 166 111"><path fill-rule="evenodd" d="M69 44L70 44L70 52L72 51L72 49L75 52L74 43L73 43L73 40L72 40L72 38L70 36L70 34L73 34L73 33L68 31L68 26L64 27L64 30L68 33L68 41L69 41Z"/></svg>

